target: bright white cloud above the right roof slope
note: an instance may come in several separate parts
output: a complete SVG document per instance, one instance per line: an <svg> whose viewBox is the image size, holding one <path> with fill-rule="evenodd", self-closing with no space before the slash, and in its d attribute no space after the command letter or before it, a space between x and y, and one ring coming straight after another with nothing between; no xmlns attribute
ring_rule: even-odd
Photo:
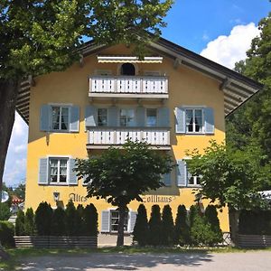
<svg viewBox="0 0 271 271"><path fill-rule="evenodd" d="M209 42L201 51L201 55L233 69L237 61L246 59L246 51L250 48L253 38L259 34L255 23L236 25L229 36L221 35Z"/></svg>

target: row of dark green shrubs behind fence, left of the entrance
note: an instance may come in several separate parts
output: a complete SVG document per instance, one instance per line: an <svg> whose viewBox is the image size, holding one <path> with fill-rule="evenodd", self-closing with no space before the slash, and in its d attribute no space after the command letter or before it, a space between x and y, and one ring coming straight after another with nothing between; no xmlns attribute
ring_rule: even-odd
<svg viewBox="0 0 271 271"><path fill-rule="evenodd" d="M19 211L15 222L15 234L38 236L97 236L98 212L91 203L85 208L75 208L69 201L67 208L51 209L46 201L40 203L35 213L27 209L25 215Z"/></svg>

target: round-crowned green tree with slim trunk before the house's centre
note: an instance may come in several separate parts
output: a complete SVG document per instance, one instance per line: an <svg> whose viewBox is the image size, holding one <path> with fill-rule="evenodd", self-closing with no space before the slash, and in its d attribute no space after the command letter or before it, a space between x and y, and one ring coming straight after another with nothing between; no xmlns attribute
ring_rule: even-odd
<svg viewBox="0 0 271 271"><path fill-rule="evenodd" d="M141 195L163 186L161 175L173 168L168 154L150 150L146 143L128 141L123 149L110 147L98 157L77 160L78 175L87 176L88 197L105 199L118 207L117 246L124 243L127 204L142 201Z"/></svg>

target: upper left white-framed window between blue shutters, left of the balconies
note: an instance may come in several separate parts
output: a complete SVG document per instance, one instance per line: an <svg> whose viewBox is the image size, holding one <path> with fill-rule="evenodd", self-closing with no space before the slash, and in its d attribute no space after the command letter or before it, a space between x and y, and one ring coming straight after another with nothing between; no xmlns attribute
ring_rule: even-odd
<svg viewBox="0 0 271 271"><path fill-rule="evenodd" d="M69 129L69 107L51 107L51 128L62 131Z"/></svg>

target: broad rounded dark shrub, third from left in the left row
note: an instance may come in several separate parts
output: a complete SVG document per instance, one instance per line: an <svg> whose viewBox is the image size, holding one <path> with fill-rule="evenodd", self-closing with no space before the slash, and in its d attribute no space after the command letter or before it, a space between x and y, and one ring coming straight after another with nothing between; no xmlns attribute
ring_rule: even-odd
<svg viewBox="0 0 271 271"><path fill-rule="evenodd" d="M51 205L46 201L41 202L35 211L35 225L38 235L50 235L51 234Z"/></svg>

